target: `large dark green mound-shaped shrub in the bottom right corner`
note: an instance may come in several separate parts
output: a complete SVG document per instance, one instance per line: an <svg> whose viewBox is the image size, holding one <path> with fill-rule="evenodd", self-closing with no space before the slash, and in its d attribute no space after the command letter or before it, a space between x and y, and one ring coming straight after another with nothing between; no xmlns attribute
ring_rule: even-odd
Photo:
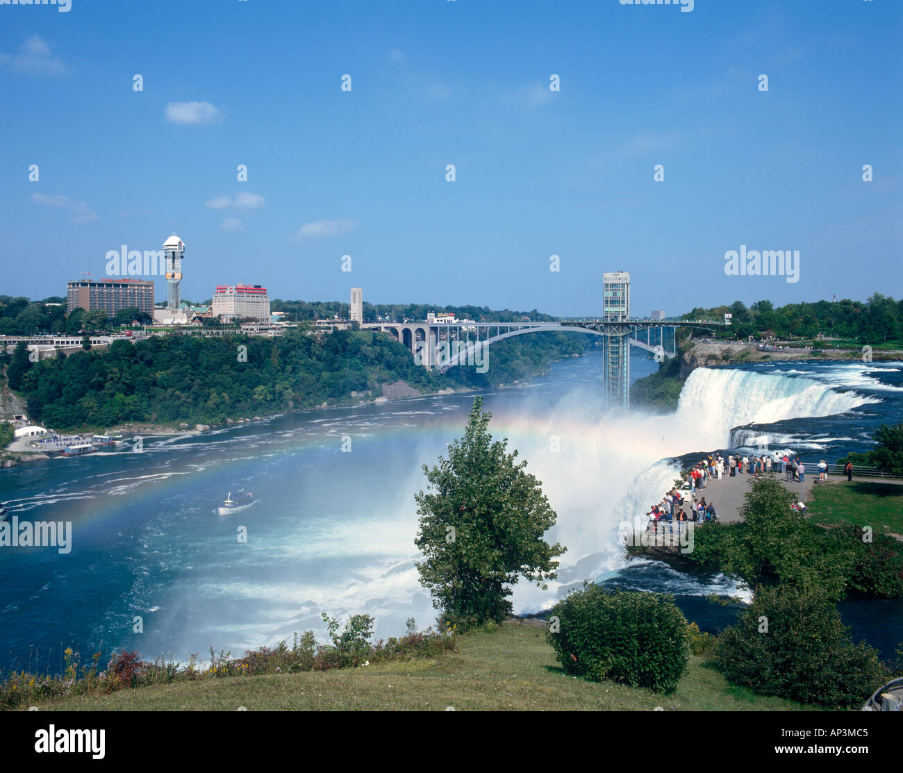
<svg viewBox="0 0 903 773"><path fill-rule="evenodd" d="M888 675L874 649L853 644L832 601L805 587L760 589L713 657L731 682L832 708L861 704Z"/></svg>

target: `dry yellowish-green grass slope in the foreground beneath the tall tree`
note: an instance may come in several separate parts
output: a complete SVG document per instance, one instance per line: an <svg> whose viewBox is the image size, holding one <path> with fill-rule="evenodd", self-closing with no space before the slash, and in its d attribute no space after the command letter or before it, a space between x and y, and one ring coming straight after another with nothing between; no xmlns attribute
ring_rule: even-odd
<svg viewBox="0 0 903 773"><path fill-rule="evenodd" d="M675 694L565 675L545 630L509 620L458 638L436 659L303 674L236 676L45 703L52 711L799 711L815 710L730 685L701 657Z"/></svg>

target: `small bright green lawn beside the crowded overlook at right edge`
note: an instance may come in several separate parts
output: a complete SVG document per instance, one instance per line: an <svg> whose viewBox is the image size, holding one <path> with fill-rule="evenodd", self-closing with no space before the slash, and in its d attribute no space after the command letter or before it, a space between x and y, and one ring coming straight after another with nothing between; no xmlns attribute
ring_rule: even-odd
<svg viewBox="0 0 903 773"><path fill-rule="evenodd" d="M846 480L812 488L806 513L817 524L871 526L876 534L903 535L903 483Z"/></svg>

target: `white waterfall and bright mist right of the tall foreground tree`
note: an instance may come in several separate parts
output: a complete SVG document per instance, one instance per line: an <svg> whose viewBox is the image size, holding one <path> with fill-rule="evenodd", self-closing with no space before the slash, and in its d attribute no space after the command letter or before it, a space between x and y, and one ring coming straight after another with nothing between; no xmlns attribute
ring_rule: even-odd
<svg viewBox="0 0 903 773"><path fill-rule="evenodd" d="M864 369L862 366L856 372ZM582 436L567 452L562 449L560 458L551 464L549 455L541 449L534 449L533 455L523 449L558 513L558 524L550 537L566 545L568 553L561 559L558 582L549 591L517 585L516 610L541 610L573 583L623 566L619 535L670 488L680 471L669 461L671 458L726 448L731 442L731 429L739 424L842 414L876 402L835 388L832 381L733 368L697 368L686 380L674 414L611 412L585 422ZM580 421L579 415L570 415L572 411L573 406L564 400L546 414L554 419L537 415L534 421L554 433L554 427L565 417L568 422ZM757 441L768 439L761 433L750 436Z"/></svg>

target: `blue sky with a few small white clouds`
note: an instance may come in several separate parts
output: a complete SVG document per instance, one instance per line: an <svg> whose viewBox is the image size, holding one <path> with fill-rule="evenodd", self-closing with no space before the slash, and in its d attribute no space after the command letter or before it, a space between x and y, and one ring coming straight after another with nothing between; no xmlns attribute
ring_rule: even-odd
<svg viewBox="0 0 903 773"><path fill-rule="evenodd" d="M71 4L0 5L0 293L175 232L192 300L590 315L616 270L638 315L903 294L897 0ZM725 275L740 245L799 250L799 281Z"/></svg>

